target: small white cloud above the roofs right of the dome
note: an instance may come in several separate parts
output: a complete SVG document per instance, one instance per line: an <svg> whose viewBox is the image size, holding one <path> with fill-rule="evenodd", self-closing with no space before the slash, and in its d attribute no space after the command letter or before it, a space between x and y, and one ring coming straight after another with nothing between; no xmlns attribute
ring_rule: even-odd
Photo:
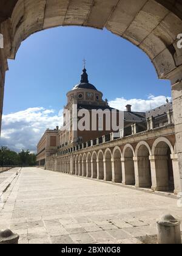
<svg viewBox="0 0 182 256"><path fill-rule="evenodd" d="M167 97L171 101L170 97ZM132 111L135 112L146 112L150 108L156 108L166 103L165 96L153 96L149 95L147 99L124 99L116 98L109 102L110 107L117 108L118 110L125 110L126 105L132 105Z"/></svg>

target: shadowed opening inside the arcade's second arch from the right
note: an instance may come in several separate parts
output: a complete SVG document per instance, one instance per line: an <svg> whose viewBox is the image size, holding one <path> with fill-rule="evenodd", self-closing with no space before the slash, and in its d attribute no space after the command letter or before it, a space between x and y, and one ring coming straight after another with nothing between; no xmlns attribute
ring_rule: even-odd
<svg viewBox="0 0 182 256"><path fill-rule="evenodd" d="M152 176L149 160L149 149L146 145L141 145L138 149L137 167L138 167L138 185L136 187L151 188L152 187Z"/></svg>

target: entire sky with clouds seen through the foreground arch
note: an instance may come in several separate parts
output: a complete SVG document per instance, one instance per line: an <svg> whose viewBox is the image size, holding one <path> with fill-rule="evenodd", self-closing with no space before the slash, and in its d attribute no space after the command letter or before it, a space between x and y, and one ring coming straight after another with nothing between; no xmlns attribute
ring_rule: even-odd
<svg viewBox="0 0 182 256"><path fill-rule="evenodd" d="M149 57L108 30L57 27L22 42L8 60L1 146L36 151L44 130L62 124L66 93L79 84L83 59L89 82L111 107L146 111L171 99L170 82L159 80Z"/></svg>

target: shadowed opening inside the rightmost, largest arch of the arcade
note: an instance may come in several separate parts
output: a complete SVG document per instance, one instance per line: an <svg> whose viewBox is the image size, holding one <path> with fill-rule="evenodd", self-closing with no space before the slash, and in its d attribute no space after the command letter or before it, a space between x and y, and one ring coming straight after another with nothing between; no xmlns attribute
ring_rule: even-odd
<svg viewBox="0 0 182 256"><path fill-rule="evenodd" d="M157 183L155 190L157 191L174 191L174 172L170 158L171 154L171 149L166 141L160 141L155 146L155 175Z"/></svg>

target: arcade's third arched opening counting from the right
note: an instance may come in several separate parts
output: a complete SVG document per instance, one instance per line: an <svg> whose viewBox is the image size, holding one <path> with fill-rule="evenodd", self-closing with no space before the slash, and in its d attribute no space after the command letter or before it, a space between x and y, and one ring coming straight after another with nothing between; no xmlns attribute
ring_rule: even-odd
<svg viewBox="0 0 182 256"><path fill-rule="evenodd" d="M124 180L123 183L126 185L135 185L135 166L133 162L133 150L132 146L127 146L123 153L124 156Z"/></svg>

